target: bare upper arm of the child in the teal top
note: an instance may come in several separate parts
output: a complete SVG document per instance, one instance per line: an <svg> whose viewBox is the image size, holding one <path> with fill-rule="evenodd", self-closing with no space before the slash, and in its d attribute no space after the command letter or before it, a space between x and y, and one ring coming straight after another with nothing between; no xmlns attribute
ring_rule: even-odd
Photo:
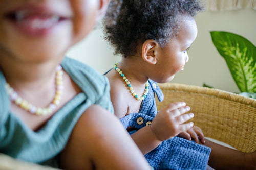
<svg viewBox="0 0 256 170"><path fill-rule="evenodd" d="M64 169L150 169L119 120L97 105L81 115L60 163Z"/></svg>

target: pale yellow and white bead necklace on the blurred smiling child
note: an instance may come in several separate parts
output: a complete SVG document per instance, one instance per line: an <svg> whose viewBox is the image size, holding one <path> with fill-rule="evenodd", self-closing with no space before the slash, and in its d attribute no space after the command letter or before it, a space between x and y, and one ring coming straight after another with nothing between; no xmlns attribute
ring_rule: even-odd
<svg viewBox="0 0 256 170"><path fill-rule="evenodd" d="M14 102L16 105L18 105L20 108L35 115L49 115L53 113L56 106L59 105L60 103L61 94L63 93L63 89L64 89L62 79L63 79L62 67L58 65L56 68L56 77L55 77L55 83L56 83L55 96L53 101L46 108L36 107L31 103L29 103L28 101L22 99L20 96L18 96L17 92L15 92L12 87L10 87L8 83L6 83L6 89L10 96L11 101Z"/></svg>

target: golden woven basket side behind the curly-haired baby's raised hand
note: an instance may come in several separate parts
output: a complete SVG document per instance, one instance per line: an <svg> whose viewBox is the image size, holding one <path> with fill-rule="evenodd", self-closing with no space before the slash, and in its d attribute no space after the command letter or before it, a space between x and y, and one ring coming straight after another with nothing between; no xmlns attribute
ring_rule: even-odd
<svg viewBox="0 0 256 170"><path fill-rule="evenodd" d="M242 152L256 150L256 100L207 87L159 84L164 93L157 109L174 102L186 102L195 114L191 120L204 136L225 142Z"/></svg>

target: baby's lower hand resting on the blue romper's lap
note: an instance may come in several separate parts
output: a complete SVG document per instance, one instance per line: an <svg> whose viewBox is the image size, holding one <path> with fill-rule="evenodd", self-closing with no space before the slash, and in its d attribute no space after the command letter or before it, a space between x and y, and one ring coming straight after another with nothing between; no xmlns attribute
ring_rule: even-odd
<svg viewBox="0 0 256 170"><path fill-rule="evenodd" d="M186 132L181 132L178 134L179 137L182 137L187 140L194 140L196 143L199 143L199 140L202 143L205 143L204 134L198 126L193 126L188 129Z"/></svg>

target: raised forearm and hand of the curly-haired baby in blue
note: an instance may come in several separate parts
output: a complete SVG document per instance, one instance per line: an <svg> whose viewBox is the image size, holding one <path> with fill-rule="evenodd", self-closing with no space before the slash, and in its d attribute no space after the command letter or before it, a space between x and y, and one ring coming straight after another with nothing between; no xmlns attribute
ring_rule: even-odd
<svg viewBox="0 0 256 170"><path fill-rule="evenodd" d="M132 138L143 154L155 149L162 141L177 136L180 132L187 131L193 123L186 123L194 117L183 102L169 104L161 109L150 126L146 126L132 134Z"/></svg>

